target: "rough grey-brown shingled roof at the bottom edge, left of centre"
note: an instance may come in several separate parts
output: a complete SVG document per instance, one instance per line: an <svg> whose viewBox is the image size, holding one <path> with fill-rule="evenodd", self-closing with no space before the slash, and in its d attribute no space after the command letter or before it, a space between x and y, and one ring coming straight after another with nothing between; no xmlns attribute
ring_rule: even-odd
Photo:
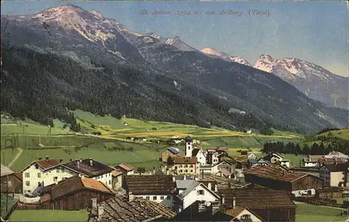
<svg viewBox="0 0 349 222"><path fill-rule="evenodd" d="M151 221L151 219L161 218L171 219L176 216L168 207L144 198L135 197L127 202L126 197L115 197L105 200L98 205L104 206L104 213L97 219L96 215L91 216L92 221ZM96 213L95 213L96 214Z"/></svg>

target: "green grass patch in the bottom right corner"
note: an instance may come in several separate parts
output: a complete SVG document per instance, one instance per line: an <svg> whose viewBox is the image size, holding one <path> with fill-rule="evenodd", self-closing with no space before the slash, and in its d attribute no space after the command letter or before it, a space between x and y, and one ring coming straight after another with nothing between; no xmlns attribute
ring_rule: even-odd
<svg viewBox="0 0 349 222"><path fill-rule="evenodd" d="M344 209L299 203L296 209L296 222L346 221L348 216L341 216Z"/></svg>

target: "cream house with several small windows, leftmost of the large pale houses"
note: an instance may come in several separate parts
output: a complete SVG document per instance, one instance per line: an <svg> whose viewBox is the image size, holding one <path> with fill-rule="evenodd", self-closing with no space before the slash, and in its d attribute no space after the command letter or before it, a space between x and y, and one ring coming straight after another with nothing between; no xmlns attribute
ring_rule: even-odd
<svg viewBox="0 0 349 222"><path fill-rule="evenodd" d="M23 169L23 193L33 193L40 187L55 184L68 177L79 175L79 171L68 168L56 159L39 158Z"/></svg>

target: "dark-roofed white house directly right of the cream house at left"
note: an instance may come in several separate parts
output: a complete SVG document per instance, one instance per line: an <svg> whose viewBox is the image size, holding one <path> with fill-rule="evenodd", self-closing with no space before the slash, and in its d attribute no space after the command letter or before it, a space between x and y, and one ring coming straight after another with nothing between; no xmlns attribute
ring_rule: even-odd
<svg viewBox="0 0 349 222"><path fill-rule="evenodd" d="M114 171L114 168L111 168L110 166L91 158L76 159L63 165L82 173L84 177L101 181L108 187L112 188L112 171Z"/></svg>

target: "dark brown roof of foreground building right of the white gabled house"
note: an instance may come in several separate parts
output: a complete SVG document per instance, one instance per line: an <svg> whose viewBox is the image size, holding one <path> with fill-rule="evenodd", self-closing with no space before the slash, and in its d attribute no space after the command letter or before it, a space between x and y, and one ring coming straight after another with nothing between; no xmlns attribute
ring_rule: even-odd
<svg viewBox="0 0 349 222"><path fill-rule="evenodd" d="M272 190L267 188L242 188L220 189L225 197L225 203L232 204L235 197L235 205L248 207L249 209L285 208L296 207L287 191Z"/></svg>

